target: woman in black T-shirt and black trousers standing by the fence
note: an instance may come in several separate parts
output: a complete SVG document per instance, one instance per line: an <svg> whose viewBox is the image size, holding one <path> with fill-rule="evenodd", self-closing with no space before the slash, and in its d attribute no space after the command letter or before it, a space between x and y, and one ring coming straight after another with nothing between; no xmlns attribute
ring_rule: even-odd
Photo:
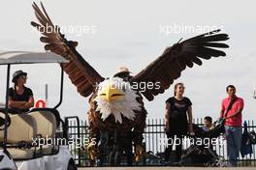
<svg viewBox="0 0 256 170"><path fill-rule="evenodd" d="M165 160L169 161L173 146L176 141L176 163L180 162L182 152L182 138L187 132L194 134L192 125L192 102L183 97L184 85L175 85L175 96L166 100L166 134L168 147L165 151ZM177 140L178 139L178 140Z"/></svg>

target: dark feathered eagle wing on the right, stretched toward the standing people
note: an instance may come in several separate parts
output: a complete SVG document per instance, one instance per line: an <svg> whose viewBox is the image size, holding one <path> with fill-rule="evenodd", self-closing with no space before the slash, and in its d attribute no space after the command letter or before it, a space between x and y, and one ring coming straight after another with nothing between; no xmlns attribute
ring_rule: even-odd
<svg viewBox="0 0 256 170"><path fill-rule="evenodd" d="M142 92L148 100L163 94L187 66L192 68L194 63L201 66L201 59L226 56L225 52L217 48L229 47L223 43L229 38L227 34L219 32L220 30L215 30L166 48L160 57L132 77L130 82L158 82L160 88L147 88Z"/></svg>

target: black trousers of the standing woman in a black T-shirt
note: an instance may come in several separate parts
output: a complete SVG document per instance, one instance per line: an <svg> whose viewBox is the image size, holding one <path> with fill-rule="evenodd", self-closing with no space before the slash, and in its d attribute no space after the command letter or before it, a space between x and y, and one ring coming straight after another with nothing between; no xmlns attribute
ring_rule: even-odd
<svg viewBox="0 0 256 170"><path fill-rule="evenodd" d="M176 157L175 162L179 162L181 159L182 154L182 142L183 142L183 135L181 134L168 134L168 146L165 150L165 160L169 161L171 153L173 151L173 146L176 144Z"/></svg>

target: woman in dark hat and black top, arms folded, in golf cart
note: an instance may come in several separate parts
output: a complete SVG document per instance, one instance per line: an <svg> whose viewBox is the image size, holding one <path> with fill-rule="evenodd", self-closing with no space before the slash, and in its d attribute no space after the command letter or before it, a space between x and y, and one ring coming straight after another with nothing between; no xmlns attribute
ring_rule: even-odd
<svg viewBox="0 0 256 170"><path fill-rule="evenodd" d="M17 113L28 112L34 106L34 97L31 89L24 86L27 72L15 71L13 74L14 87L9 89L9 108L14 108Z"/></svg>

